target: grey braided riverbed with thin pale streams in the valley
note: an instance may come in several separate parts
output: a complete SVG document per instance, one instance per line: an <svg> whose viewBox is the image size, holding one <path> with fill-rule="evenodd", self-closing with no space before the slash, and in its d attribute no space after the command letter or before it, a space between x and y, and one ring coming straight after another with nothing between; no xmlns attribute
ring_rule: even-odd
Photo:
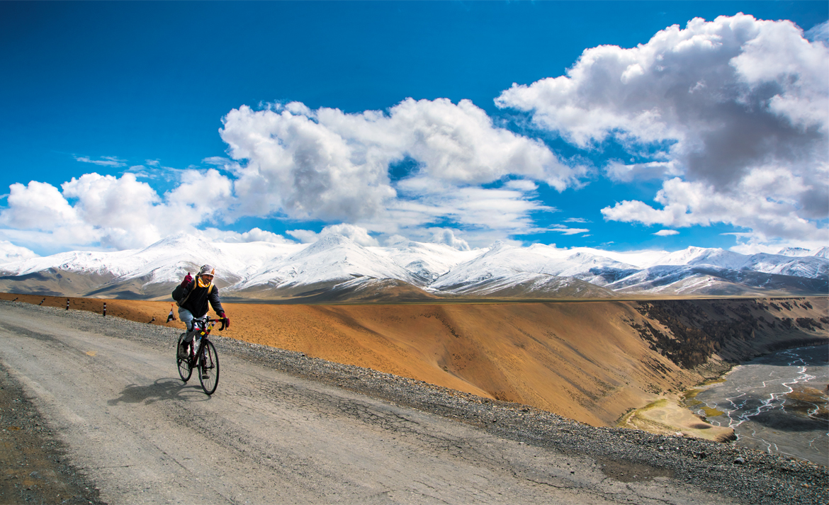
<svg viewBox="0 0 829 505"><path fill-rule="evenodd" d="M738 445L829 466L827 383L829 346L787 349L734 367L690 405Z"/></svg>

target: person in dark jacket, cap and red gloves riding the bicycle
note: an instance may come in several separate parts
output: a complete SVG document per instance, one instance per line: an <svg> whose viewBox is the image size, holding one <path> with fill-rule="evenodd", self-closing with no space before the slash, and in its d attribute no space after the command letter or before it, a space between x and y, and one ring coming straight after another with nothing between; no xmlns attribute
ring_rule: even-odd
<svg viewBox="0 0 829 505"><path fill-rule="evenodd" d="M213 310L225 319L225 328L230 328L230 318L225 315L225 309L221 308L219 299L219 288L213 284L213 277L216 269L211 265L202 265L196 279L193 279L190 272L182 280L176 289L172 291L172 299L178 303L178 318L182 323L187 324L187 337L182 340L182 346L178 347L178 357L187 359L187 347L193 341L196 332L193 331L193 318L201 318L207 313L209 302Z"/></svg>

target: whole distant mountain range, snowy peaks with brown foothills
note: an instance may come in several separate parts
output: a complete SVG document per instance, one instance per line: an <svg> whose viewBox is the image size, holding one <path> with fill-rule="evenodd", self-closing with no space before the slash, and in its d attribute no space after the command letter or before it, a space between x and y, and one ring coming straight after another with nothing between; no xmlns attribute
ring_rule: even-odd
<svg viewBox="0 0 829 505"><path fill-rule="evenodd" d="M298 302L439 298L612 298L619 295L829 294L829 248L741 255L689 247L620 253L550 245L456 250L400 241L365 247L344 236L313 244L218 243L179 234L141 250L27 257L0 248L0 290L169 299L200 265L217 269L223 299Z"/></svg>

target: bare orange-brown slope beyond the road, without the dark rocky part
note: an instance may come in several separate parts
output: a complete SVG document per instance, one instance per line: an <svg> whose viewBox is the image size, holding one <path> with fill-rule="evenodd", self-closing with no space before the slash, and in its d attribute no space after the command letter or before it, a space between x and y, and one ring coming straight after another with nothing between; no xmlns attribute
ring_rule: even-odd
<svg viewBox="0 0 829 505"><path fill-rule="evenodd" d="M52 307L65 307L67 300L31 294L0 294L0 299L42 300ZM817 319L827 312L827 299L808 300L808 307L795 303L783 313L769 308L767 317ZM70 309L95 313L106 303L107 317L182 328L178 321L166 322L171 302L69 302ZM671 362L640 336L633 326L647 322L665 328L642 315L635 301L223 304L231 320L223 337L532 405L589 425L614 425L632 408L706 378ZM794 330L792 337L826 335L817 328ZM754 344L773 343L774 335L758 330Z"/></svg>

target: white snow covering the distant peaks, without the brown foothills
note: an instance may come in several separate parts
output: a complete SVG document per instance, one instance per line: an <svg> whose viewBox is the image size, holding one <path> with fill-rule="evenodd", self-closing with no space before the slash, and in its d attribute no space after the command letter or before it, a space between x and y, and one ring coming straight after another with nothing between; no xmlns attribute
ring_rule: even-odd
<svg viewBox="0 0 829 505"><path fill-rule="evenodd" d="M0 272L17 276L56 269L99 274L109 284L140 279L148 284L177 283L201 265L216 268L217 283L230 291L333 285L352 279L399 279L435 292L480 289L549 289L550 278L574 278L609 289L701 289L695 280L709 267L755 271L801 278L829 276L829 248L786 254L741 255L717 248L613 252L588 247L570 249L535 244L529 247L497 241L487 249L457 250L449 245L399 240L362 246L345 236L327 234L313 244L271 242L210 242L200 236L168 236L143 249L116 252L70 251L36 256L0 241ZM703 267L702 269L697 267ZM734 279L739 275L733 276ZM700 278L701 279L701 278ZM564 282L561 279L561 282ZM713 281L712 281L713 282ZM721 282L721 281L716 281ZM578 283L577 283L578 284ZM817 284L815 284L817 285Z"/></svg>

